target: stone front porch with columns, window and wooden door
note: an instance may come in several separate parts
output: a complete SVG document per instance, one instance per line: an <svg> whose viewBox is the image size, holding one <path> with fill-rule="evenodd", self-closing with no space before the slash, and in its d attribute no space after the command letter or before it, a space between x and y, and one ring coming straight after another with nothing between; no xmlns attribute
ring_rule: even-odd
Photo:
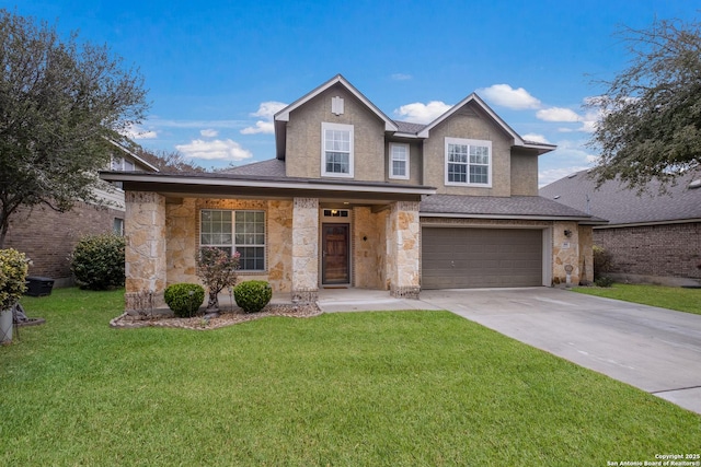
<svg viewBox="0 0 701 467"><path fill-rule="evenodd" d="M198 249L226 247L222 242L246 252L239 282L266 280L278 302L315 303L330 287L333 292L372 290L386 299L418 297L418 201L126 195L127 311L163 307L163 292L172 283L200 283ZM344 217L336 217L340 210ZM230 214L209 225L203 212ZM264 231L251 233L245 221L239 225L237 214L250 212L262 213L256 219L264 219ZM250 241L256 235L264 241ZM222 304L230 301L228 294L221 299Z"/></svg>

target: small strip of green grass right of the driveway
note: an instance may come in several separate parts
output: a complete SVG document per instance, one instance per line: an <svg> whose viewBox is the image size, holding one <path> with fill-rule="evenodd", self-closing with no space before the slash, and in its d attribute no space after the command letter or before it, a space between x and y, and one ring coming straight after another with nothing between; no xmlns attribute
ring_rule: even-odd
<svg viewBox="0 0 701 467"><path fill-rule="evenodd" d="M614 283L610 288L581 287L573 290L587 295L623 300L625 302L701 315L701 289Z"/></svg>

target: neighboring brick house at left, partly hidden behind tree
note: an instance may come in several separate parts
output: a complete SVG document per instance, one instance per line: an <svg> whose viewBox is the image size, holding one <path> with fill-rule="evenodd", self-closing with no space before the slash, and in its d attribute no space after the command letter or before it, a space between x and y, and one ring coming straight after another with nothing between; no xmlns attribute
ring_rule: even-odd
<svg viewBox="0 0 701 467"><path fill-rule="evenodd" d="M138 155L117 143L112 155L114 171L158 172ZM15 248L32 259L30 276L54 279L55 287L72 284L69 255L83 235L124 232L124 190L97 190L110 208L77 202L69 212L47 207L22 209L10 219L5 248Z"/></svg>

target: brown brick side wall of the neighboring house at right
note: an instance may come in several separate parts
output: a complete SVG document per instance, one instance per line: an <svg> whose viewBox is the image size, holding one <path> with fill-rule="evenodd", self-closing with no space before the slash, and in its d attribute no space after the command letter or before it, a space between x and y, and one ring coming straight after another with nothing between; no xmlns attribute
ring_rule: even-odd
<svg viewBox="0 0 701 467"><path fill-rule="evenodd" d="M701 222L595 229L594 243L611 253L612 272L701 279Z"/></svg>

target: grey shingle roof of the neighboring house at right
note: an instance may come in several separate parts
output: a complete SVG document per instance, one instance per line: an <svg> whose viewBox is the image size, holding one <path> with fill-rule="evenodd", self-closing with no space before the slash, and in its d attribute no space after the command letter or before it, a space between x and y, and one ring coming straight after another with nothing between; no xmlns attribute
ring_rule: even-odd
<svg viewBox="0 0 701 467"><path fill-rule="evenodd" d="M610 225L651 222L668 222L701 219L701 188L689 184L701 178L701 173L690 173L668 186L667 194L659 194L658 180L647 185L647 191L637 195L619 182L610 180L595 189L596 182L587 171L577 172L540 189L540 196L555 199L584 212L608 219Z"/></svg>

